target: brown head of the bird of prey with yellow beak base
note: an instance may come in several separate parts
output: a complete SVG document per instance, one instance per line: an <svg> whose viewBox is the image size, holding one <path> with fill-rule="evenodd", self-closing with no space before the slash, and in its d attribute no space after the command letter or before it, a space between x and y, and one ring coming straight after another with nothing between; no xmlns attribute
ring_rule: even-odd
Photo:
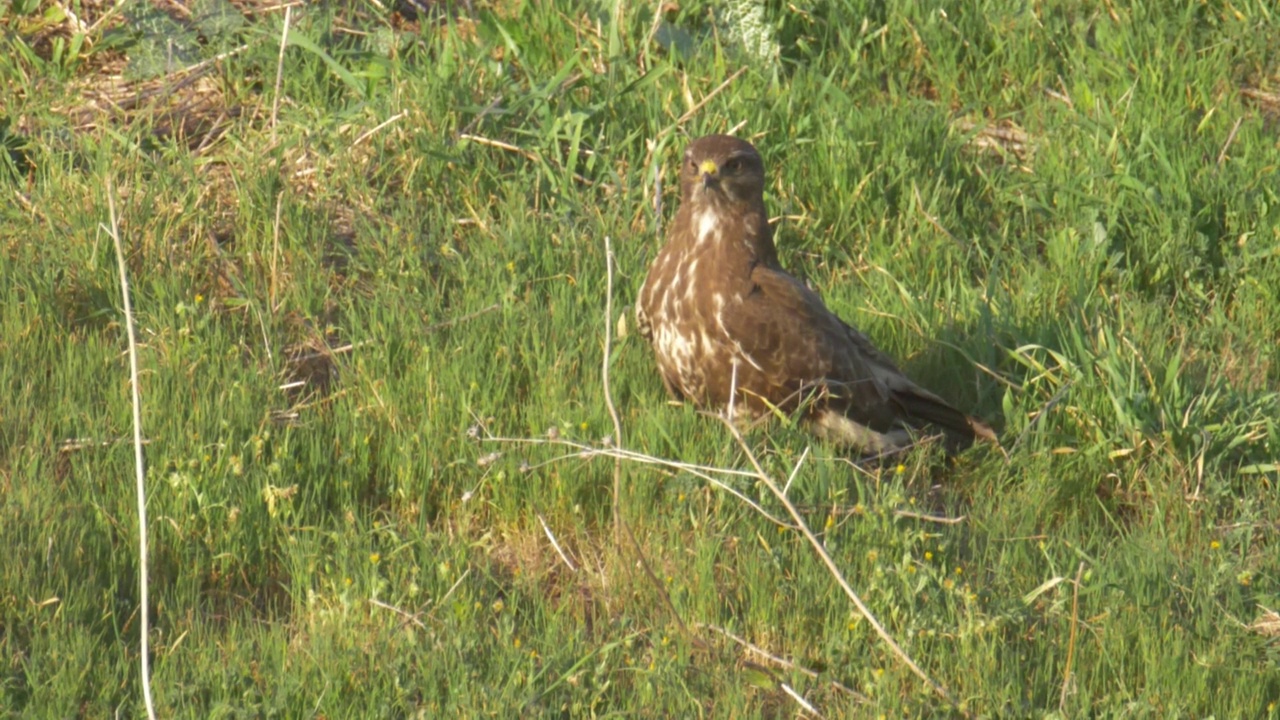
<svg viewBox="0 0 1280 720"><path fill-rule="evenodd" d="M685 151L680 170L685 202L756 204L764 199L764 161L745 140L727 135L699 137Z"/></svg>

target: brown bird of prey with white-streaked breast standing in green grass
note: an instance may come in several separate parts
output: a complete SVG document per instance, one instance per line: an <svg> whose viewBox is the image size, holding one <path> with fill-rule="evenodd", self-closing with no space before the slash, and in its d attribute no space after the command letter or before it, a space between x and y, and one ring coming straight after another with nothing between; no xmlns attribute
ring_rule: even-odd
<svg viewBox="0 0 1280 720"><path fill-rule="evenodd" d="M913 383L778 263L751 143L690 143L680 210L636 302L667 392L701 409L804 416L823 438L887 454L942 430L948 450L995 441L982 421ZM731 400L732 393L732 400Z"/></svg>

